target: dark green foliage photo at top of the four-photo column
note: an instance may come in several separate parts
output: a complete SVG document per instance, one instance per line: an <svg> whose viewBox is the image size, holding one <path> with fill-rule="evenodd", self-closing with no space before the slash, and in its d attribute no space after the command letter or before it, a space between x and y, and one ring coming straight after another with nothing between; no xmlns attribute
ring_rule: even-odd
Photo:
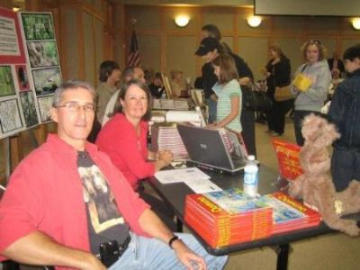
<svg viewBox="0 0 360 270"><path fill-rule="evenodd" d="M53 40L54 27L51 14L22 14L26 40Z"/></svg>

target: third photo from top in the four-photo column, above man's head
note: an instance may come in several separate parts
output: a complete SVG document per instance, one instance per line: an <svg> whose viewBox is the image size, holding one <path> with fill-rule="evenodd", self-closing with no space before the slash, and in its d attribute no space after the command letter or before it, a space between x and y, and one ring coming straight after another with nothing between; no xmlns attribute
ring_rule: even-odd
<svg viewBox="0 0 360 270"><path fill-rule="evenodd" d="M36 94L52 94L61 83L60 68L32 69Z"/></svg>

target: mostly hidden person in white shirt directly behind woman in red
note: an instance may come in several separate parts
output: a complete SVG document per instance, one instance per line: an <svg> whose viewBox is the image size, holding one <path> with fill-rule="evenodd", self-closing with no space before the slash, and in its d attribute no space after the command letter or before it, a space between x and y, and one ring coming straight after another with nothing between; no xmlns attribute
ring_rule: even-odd
<svg viewBox="0 0 360 270"><path fill-rule="evenodd" d="M122 71L122 83L127 83L132 79L138 79L141 80L142 82L145 82L144 71L142 70L141 67L126 67ZM102 126L112 117L113 110L115 109L116 103L118 101L119 93L120 93L120 89L112 94L112 97L107 103L103 115L103 121L101 122Z"/></svg>

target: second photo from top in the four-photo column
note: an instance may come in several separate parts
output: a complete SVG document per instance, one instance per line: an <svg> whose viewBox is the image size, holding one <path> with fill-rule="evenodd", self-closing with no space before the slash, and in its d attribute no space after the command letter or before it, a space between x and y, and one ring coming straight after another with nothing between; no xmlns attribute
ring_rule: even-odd
<svg viewBox="0 0 360 270"><path fill-rule="evenodd" d="M58 66L58 51L55 41L27 41L31 67Z"/></svg>

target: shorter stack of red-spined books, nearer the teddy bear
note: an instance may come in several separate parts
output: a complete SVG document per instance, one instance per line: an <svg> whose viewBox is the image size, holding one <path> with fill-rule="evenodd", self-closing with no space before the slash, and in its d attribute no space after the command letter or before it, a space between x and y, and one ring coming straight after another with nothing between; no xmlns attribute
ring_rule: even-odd
<svg viewBox="0 0 360 270"><path fill-rule="evenodd" d="M273 234L318 226L320 223L319 212L313 211L285 193L267 194L262 196L260 200L270 205L274 210Z"/></svg>

